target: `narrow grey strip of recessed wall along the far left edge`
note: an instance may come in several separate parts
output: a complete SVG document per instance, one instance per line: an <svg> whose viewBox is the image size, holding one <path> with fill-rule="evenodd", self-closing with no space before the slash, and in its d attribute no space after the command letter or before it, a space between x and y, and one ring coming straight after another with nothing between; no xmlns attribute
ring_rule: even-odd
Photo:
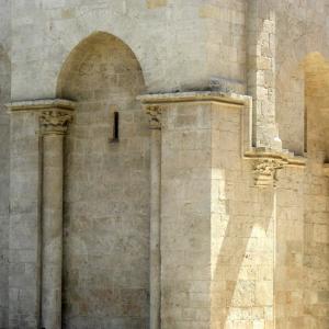
<svg viewBox="0 0 329 329"><path fill-rule="evenodd" d="M0 1L0 328L8 316L10 1Z"/></svg>

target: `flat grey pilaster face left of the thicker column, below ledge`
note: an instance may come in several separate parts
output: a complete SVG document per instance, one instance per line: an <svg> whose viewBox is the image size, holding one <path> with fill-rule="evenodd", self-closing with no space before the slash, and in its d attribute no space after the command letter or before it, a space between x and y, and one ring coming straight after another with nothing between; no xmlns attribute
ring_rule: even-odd
<svg viewBox="0 0 329 329"><path fill-rule="evenodd" d="M39 328L39 138L37 115L11 111L9 328Z"/></svg>

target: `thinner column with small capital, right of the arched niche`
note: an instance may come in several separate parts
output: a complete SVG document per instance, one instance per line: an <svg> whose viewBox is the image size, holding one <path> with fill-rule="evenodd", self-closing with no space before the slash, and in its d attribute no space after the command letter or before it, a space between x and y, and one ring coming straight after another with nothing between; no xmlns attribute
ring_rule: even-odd
<svg viewBox="0 0 329 329"><path fill-rule="evenodd" d="M151 129L150 163L150 328L160 328L161 256L160 256L160 181L161 181L161 109L147 106Z"/></svg>

